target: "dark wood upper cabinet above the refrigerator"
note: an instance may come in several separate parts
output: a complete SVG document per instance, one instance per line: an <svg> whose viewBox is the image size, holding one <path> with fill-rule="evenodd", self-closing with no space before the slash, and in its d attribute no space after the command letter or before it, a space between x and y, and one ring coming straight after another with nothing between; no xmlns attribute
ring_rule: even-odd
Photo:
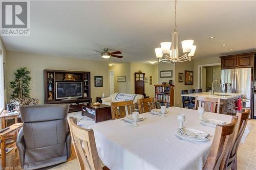
<svg viewBox="0 0 256 170"><path fill-rule="evenodd" d="M255 53L221 56L221 69L253 67Z"/></svg>

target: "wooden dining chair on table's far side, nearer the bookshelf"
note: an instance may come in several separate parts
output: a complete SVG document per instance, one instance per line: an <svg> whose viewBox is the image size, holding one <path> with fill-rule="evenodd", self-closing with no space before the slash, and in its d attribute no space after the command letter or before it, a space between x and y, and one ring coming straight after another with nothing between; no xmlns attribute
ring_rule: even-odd
<svg viewBox="0 0 256 170"><path fill-rule="evenodd" d="M156 108L156 100L154 98L138 99L140 113L150 112Z"/></svg>

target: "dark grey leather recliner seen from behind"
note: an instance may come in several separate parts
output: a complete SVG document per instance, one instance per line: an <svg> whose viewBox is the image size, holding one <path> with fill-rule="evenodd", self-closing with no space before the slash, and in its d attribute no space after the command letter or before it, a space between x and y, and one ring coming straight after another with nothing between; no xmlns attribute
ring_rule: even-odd
<svg viewBox="0 0 256 170"><path fill-rule="evenodd" d="M20 165L38 169L70 157L69 105L20 106L23 128L17 136Z"/></svg>

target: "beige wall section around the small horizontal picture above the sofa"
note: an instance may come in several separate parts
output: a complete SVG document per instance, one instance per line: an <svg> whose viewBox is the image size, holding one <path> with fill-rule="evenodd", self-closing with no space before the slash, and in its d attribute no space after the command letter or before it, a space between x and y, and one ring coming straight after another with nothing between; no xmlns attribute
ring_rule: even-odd
<svg viewBox="0 0 256 170"><path fill-rule="evenodd" d="M131 93L131 63L120 63L109 66L109 70L114 70L114 91L121 93ZM117 82L118 76L125 76L125 82Z"/></svg>

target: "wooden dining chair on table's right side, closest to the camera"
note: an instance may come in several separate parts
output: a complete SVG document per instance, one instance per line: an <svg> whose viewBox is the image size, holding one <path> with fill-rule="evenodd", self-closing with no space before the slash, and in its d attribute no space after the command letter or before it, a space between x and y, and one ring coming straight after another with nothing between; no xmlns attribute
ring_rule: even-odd
<svg viewBox="0 0 256 170"><path fill-rule="evenodd" d="M216 126L210 152L203 167L204 170L225 169L221 166L221 164L227 159L227 153L229 153L231 150L231 144L234 137L234 132L236 131L237 122L238 117L232 116L230 124Z"/></svg>

